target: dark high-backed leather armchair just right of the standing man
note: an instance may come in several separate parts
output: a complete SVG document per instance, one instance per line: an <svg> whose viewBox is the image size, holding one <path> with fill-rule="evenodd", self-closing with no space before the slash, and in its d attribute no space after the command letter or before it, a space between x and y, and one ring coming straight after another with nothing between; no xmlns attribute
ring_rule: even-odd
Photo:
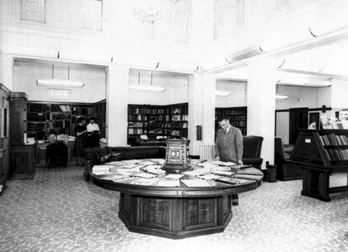
<svg viewBox="0 0 348 252"><path fill-rule="evenodd" d="M243 136L243 158L244 165L253 165L261 169L263 159L261 156L263 137L256 135Z"/></svg>

